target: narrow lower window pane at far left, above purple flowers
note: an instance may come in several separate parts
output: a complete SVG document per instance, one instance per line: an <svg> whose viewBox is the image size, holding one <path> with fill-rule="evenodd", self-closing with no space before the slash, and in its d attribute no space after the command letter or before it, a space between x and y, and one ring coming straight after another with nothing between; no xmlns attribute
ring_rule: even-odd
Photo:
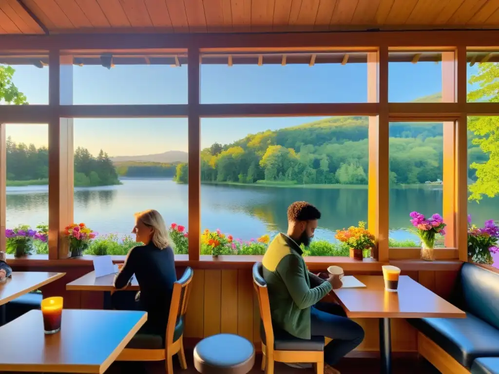
<svg viewBox="0 0 499 374"><path fill-rule="evenodd" d="M6 124L7 253L14 254L17 235L40 235L25 241L31 253L46 254L48 229L48 125ZM17 234L17 235L15 235Z"/></svg>

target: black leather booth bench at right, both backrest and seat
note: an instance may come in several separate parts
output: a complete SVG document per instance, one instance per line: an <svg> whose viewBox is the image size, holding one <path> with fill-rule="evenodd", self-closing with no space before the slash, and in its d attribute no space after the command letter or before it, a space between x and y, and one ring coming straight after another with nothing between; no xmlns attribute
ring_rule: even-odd
<svg viewBox="0 0 499 374"><path fill-rule="evenodd" d="M409 322L467 368L480 357L499 357L499 274L465 263L455 295L453 302L466 311L465 319Z"/></svg>

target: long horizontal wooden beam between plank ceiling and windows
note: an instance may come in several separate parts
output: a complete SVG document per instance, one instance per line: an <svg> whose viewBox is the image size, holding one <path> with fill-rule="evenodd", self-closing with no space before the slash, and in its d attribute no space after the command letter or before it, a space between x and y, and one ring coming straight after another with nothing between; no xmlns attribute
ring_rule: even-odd
<svg viewBox="0 0 499 374"><path fill-rule="evenodd" d="M447 50L469 46L499 48L499 30L466 31L393 31L393 32L322 32L267 34L54 34L0 35L0 50L124 50L200 48L201 52L265 51L368 51L385 45L391 48L414 47Z"/></svg>

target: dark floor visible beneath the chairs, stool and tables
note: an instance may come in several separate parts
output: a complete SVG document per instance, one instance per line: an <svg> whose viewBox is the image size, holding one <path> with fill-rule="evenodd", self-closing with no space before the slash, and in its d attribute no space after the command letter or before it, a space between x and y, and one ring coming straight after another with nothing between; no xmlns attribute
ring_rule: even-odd
<svg viewBox="0 0 499 374"><path fill-rule="evenodd" d="M177 360L174 360L175 374L196 374L198 373L192 363L192 353L188 354L187 363L188 369L183 371L180 369ZM190 358L190 359L189 359ZM259 370L261 363L261 356L256 358L256 363L250 374L262 374ZM364 358L348 358L343 359L337 366L342 374L378 374L379 360L377 359L364 359ZM119 373L151 373L151 374L165 374L165 366L163 362L158 363L115 363L109 368L106 374L119 374ZM275 374L311 374L314 373L312 369L293 369L284 364L277 363L275 365ZM393 361L393 374L439 374L432 365L423 360L415 359L398 359Z"/></svg>

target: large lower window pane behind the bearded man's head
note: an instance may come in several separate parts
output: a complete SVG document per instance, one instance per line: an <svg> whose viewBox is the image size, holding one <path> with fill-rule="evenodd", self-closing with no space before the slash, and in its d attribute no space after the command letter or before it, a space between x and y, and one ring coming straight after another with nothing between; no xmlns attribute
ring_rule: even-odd
<svg viewBox="0 0 499 374"><path fill-rule="evenodd" d="M203 119L202 229L232 237L220 240L224 254L262 254L287 231L287 207L306 200L322 217L305 254L348 256L335 234L367 220L367 125L367 117Z"/></svg>

